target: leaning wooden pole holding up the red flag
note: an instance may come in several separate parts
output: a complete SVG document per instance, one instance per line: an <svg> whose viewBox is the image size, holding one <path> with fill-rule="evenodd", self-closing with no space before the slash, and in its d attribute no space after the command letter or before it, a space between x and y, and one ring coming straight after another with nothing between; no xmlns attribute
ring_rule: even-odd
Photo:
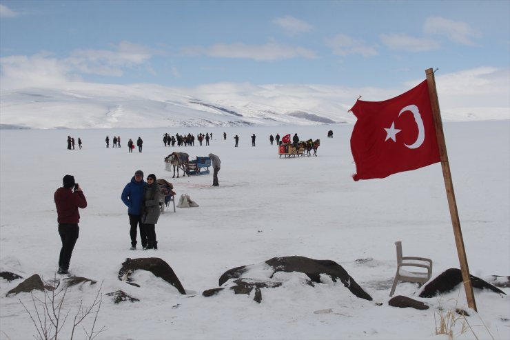
<svg viewBox="0 0 510 340"><path fill-rule="evenodd" d="M453 192L453 181L451 180L450 164L448 162L448 154L445 143L445 133L442 130L441 112L439 110L438 92L436 90L436 79L434 78L434 72L431 68L425 70L425 74L427 74L427 85L429 86L430 103L432 106L434 125L436 126L436 136L438 137L442 177L445 179L451 224L453 226L453 234L455 236L455 243L457 246L460 271L462 272L462 281L464 282L464 289L466 291L467 306L469 306L469 308L473 308L473 310L476 311L473 285L471 284L469 267L467 266L466 250L464 248L464 240L462 239L462 230L460 230L457 202L455 199L455 193Z"/></svg>

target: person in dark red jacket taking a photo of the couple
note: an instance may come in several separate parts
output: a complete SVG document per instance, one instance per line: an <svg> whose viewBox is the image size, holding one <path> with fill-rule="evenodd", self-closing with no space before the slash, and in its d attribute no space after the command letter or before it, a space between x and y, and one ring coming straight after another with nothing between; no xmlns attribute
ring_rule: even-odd
<svg viewBox="0 0 510 340"><path fill-rule="evenodd" d="M69 263L72 250L78 239L80 228L80 214L78 208L87 207L87 199L74 177L66 174L63 179L63 187L58 188L54 194L55 206L57 206L57 222L59 223L59 234L62 240L62 248L59 257L59 274L69 274Z"/></svg>

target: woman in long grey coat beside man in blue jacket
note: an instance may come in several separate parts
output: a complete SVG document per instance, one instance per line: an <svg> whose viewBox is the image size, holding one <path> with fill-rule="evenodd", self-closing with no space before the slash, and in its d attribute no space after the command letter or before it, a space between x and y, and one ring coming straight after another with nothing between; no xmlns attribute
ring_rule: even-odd
<svg viewBox="0 0 510 340"><path fill-rule="evenodd" d="M142 223L147 234L147 249L158 249L158 242L156 241L156 223L158 223L160 199L159 184L156 181L156 175L150 174L147 176L147 184L143 188L143 214Z"/></svg>

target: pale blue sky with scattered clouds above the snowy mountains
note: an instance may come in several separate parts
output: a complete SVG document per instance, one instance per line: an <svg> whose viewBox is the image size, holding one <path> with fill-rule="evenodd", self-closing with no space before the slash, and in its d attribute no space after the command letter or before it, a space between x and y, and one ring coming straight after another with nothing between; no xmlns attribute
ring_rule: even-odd
<svg viewBox="0 0 510 340"><path fill-rule="evenodd" d="M508 69L509 18L508 0L0 0L2 85L385 88L427 68Z"/></svg>

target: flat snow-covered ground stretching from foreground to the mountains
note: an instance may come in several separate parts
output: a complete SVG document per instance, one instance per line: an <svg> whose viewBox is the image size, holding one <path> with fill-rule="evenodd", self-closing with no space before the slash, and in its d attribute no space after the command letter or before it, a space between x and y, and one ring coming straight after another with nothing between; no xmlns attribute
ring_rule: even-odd
<svg viewBox="0 0 510 340"><path fill-rule="evenodd" d="M334 138L327 139L327 130ZM0 271L27 278L54 277L60 250L54 190L73 174L88 199L81 210L80 237L72 274L102 282L96 339L447 339L436 336L440 311L467 310L465 292L420 299L412 283L396 294L429 304L429 310L388 306L396 270L395 241L405 255L433 259L433 275L459 268L439 164L387 179L358 181L349 138L352 126L251 128L140 128L108 130L0 131ZM213 132L210 146L164 148L163 134ZM227 132L227 140L223 140ZM320 139L318 157L279 159L269 134L298 133ZM255 133L257 146L249 136ZM234 135L241 137L234 148ZM66 150L67 136L83 149ZM121 148L105 148L105 137L120 135ZM510 121L445 123L445 135L471 274L482 279L510 274ZM129 138L144 140L143 152L128 153ZM111 143L110 143L111 146ZM220 186L212 174L172 179L163 158L172 151L190 157L213 152L221 158ZM129 250L123 187L135 170L174 183L198 208L165 212L156 225L158 251ZM230 268L272 257L299 255L339 263L374 297L354 297L342 283L315 287L299 274L281 275L280 288L265 289L262 303L218 286ZM150 273L136 274L140 288L119 281L126 258L160 257L174 269L187 295ZM366 261L356 261L366 259ZM33 339L36 330L20 301L33 312L30 294L6 297L21 280L0 279L0 339ZM71 310L61 332L70 337L81 299L92 303L99 284L70 288ZM116 305L105 293L123 290L141 301ZM504 288L510 294L510 288ZM43 298L41 292L34 295ZM475 290L478 314L454 326L455 339L510 339L510 297ZM383 303L378 306L378 303ZM92 318L85 320L90 328ZM463 334L463 322L471 329ZM75 338L85 333L76 330Z"/></svg>

